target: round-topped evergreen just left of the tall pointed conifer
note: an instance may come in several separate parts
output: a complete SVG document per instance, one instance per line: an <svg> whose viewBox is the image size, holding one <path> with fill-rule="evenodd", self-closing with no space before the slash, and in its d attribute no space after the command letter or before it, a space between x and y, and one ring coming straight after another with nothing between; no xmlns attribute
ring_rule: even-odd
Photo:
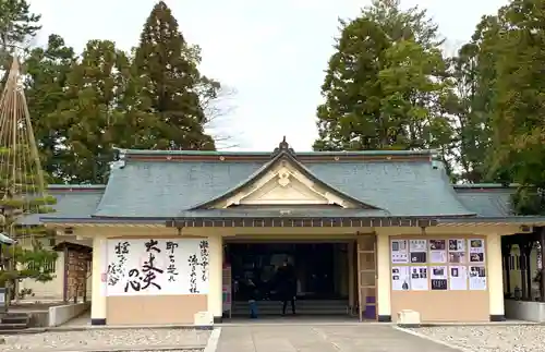
<svg viewBox="0 0 545 352"><path fill-rule="evenodd" d="M112 41L89 40L81 60L72 64L56 112L65 133L57 165L57 177L64 182L106 182L117 143L113 126L123 121L117 112L128 60Z"/></svg>

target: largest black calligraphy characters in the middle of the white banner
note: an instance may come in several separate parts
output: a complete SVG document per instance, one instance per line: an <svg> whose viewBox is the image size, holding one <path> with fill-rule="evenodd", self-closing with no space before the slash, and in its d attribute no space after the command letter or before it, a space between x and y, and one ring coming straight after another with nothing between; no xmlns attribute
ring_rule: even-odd
<svg viewBox="0 0 545 352"><path fill-rule="evenodd" d="M164 269L157 266L156 254L161 253L158 247L159 241L149 240L144 243L147 259L144 262L142 267L138 269L133 268L129 271L129 280L125 284L125 292L132 291L145 291L150 287L157 290L161 290L161 286L156 281L157 276L164 272Z"/></svg>

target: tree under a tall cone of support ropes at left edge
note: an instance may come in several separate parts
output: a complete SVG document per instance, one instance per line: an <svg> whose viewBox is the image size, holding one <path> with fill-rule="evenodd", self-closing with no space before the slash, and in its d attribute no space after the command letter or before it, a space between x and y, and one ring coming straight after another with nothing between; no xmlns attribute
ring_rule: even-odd
<svg viewBox="0 0 545 352"><path fill-rule="evenodd" d="M21 279L52 279L57 253L44 246L52 235L38 224L36 214L51 213L31 117L20 82L19 60L13 58L0 97L0 230L14 244L0 251L0 287L13 299ZM8 300L9 302L9 300Z"/></svg>

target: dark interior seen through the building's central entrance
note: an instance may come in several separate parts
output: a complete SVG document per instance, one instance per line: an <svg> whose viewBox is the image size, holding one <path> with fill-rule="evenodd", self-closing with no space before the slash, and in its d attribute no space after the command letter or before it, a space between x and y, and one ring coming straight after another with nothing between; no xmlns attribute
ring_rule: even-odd
<svg viewBox="0 0 545 352"><path fill-rule="evenodd" d="M251 280L259 300L278 300L277 269L289 260L298 279L298 300L341 300L348 296L346 243L228 243L233 301L246 301ZM344 288L347 286L347 288ZM255 292L255 291L254 291Z"/></svg>

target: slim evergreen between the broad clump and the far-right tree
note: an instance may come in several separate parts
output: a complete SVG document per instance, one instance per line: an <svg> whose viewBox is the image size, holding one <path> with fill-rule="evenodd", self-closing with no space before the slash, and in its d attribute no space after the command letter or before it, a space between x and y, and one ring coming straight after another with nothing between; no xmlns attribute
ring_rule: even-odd
<svg viewBox="0 0 545 352"><path fill-rule="evenodd" d="M459 169L459 181L496 182L500 175L491 173L488 155L492 148L492 112L496 62L491 51L498 38L496 16L484 16L470 43L452 59L458 101L452 109L456 137L451 146Z"/></svg>

